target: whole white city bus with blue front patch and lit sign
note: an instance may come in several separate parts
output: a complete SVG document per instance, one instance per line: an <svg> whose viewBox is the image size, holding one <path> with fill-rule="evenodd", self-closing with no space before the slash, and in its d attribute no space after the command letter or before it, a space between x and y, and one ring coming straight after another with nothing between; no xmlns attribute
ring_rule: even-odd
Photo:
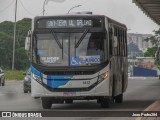
<svg viewBox="0 0 160 120"><path fill-rule="evenodd" d="M103 15L39 16L27 37L31 95L42 107L97 100L123 102L128 83L127 28ZM30 46L29 46L30 45Z"/></svg>

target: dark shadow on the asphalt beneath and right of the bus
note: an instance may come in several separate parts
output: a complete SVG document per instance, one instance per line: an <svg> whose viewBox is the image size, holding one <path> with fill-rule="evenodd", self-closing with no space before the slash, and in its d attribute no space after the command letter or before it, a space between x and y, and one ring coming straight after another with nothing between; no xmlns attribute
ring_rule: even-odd
<svg viewBox="0 0 160 120"><path fill-rule="evenodd" d="M73 104L53 104L53 110L114 110L114 111L137 111L143 110L154 101L140 101L140 100L128 100L123 103L113 103L110 108L101 108L100 103L96 101L75 101Z"/></svg>

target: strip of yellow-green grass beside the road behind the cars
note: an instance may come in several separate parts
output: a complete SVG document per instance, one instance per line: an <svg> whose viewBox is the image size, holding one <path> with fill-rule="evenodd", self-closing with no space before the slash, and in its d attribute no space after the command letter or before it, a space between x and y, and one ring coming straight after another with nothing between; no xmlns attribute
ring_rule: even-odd
<svg viewBox="0 0 160 120"><path fill-rule="evenodd" d="M24 71L12 71L12 70L4 71L6 80L23 80L24 79L23 73Z"/></svg>

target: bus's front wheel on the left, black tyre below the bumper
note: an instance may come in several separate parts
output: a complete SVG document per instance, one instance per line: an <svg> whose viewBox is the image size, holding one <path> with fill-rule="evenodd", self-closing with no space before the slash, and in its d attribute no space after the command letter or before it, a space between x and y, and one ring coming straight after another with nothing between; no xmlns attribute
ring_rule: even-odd
<svg viewBox="0 0 160 120"><path fill-rule="evenodd" d="M50 98L41 98L43 109L51 109L52 101Z"/></svg>

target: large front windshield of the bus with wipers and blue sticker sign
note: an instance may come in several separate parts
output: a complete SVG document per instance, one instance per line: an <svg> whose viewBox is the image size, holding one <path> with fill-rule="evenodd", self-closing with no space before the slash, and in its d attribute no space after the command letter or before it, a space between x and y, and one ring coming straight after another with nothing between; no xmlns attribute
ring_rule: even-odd
<svg viewBox="0 0 160 120"><path fill-rule="evenodd" d="M104 33L36 34L36 63L45 66L87 66L105 61Z"/></svg>

